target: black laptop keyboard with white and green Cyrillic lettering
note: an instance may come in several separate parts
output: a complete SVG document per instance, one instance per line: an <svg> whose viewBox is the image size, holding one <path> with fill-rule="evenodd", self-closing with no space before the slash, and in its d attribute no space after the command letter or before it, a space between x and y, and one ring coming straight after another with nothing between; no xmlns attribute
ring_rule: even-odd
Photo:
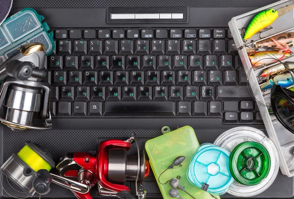
<svg viewBox="0 0 294 199"><path fill-rule="evenodd" d="M227 28L55 29L52 117L262 123Z"/></svg>

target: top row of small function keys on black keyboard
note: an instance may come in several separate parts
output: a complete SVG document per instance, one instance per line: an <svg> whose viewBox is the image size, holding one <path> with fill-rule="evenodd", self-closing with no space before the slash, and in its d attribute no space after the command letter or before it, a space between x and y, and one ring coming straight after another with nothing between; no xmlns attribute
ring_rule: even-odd
<svg viewBox="0 0 294 199"><path fill-rule="evenodd" d="M56 39L139 39L140 35L142 39L224 39L226 38L226 33L228 38L233 38L230 30L226 30L223 28L217 29L56 29L55 30L55 38Z"/></svg>

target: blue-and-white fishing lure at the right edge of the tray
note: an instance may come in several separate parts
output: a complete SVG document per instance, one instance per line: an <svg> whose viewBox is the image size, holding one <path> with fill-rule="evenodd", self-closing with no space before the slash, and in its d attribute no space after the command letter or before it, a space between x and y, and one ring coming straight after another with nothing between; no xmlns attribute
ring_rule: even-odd
<svg viewBox="0 0 294 199"><path fill-rule="evenodd" d="M292 75L294 75L292 73ZM288 87L294 84L293 78L291 76L291 74L284 74L284 75L277 75L275 77L273 77L272 79L270 79L269 81L267 81L266 83L262 84L260 86L260 88L262 90L267 90L269 88L272 87L273 84L277 84L280 85L281 87Z"/></svg>

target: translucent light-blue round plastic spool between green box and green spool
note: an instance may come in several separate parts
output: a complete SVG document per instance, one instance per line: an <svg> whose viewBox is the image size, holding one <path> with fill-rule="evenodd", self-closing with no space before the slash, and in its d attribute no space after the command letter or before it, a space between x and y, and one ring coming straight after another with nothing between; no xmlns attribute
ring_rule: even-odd
<svg viewBox="0 0 294 199"><path fill-rule="evenodd" d="M201 188L209 185L207 192L223 195L234 182L229 169L230 152L212 144L202 144L193 156L187 177L190 183Z"/></svg>

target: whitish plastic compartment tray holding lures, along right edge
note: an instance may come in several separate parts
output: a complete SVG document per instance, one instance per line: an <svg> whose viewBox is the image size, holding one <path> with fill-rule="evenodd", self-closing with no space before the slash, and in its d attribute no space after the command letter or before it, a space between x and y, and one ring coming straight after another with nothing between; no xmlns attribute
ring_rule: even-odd
<svg viewBox="0 0 294 199"><path fill-rule="evenodd" d="M292 4L294 4L294 0L281 0L268 6L259 8L257 10L253 10L246 14L234 17L229 22L229 27L232 32L236 47L239 48L244 45L243 38L240 34L240 29L246 27L252 17L254 17L254 15L263 10L271 8L278 10L282 7ZM280 33L281 31L294 32L294 10L277 18L276 21L272 23L272 26L273 29L262 33L263 37L270 37L271 35ZM258 34L255 34L246 43L250 43L251 40L256 41L258 39ZM248 75L249 70L251 69L251 63L247 56L246 49L243 48L239 50L239 55L241 57L245 72ZM284 61L294 61L294 57L292 56L287 59L283 59L283 62ZM272 65L274 64L271 64L267 67L270 67ZM259 100L263 104L270 104L270 89L268 89L268 92L262 93L256 78L256 76L259 76L263 70L265 70L265 68L252 70L249 76L249 83L255 99ZM294 167L287 166L287 162L294 157L294 134L289 132L282 124L280 124L274 115L269 114L268 108L266 106L258 104L258 108L260 110L269 137L277 147L280 157L280 169L282 174L288 175L289 177L294 176Z"/></svg>

